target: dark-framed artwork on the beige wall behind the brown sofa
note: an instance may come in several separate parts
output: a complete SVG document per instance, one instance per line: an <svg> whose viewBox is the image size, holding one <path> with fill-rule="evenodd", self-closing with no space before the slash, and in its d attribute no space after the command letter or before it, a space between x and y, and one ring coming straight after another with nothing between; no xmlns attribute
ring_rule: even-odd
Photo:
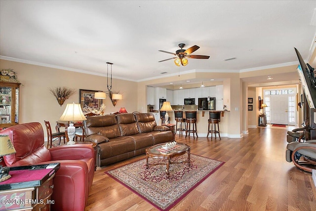
<svg viewBox="0 0 316 211"><path fill-rule="evenodd" d="M103 99L94 99L95 92L99 91L79 89L79 103L83 112L99 109L103 104Z"/></svg>

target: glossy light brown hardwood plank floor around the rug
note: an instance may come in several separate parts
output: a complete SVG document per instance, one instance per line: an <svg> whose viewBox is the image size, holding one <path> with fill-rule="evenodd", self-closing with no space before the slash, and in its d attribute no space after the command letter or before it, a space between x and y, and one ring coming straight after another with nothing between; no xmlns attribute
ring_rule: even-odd
<svg viewBox="0 0 316 211"><path fill-rule="evenodd" d="M286 130L249 128L241 139L179 138L191 153L226 162L171 211L315 211L310 173L285 160ZM86 211L157 211L105 171L145 155L97 168Z"/></svg>

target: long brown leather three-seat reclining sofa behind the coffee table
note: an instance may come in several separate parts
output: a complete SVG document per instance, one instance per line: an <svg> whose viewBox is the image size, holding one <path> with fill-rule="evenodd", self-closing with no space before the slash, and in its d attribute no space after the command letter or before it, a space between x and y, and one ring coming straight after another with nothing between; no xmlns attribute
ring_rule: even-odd
<svg viewBox="0 0 316 211"><path fill-rule="evenodd" d="M122 113L86 118L85 141L98 144L98 166L144 154L149 146L174 140L174 125L158 126L152 113Z"/></svg>

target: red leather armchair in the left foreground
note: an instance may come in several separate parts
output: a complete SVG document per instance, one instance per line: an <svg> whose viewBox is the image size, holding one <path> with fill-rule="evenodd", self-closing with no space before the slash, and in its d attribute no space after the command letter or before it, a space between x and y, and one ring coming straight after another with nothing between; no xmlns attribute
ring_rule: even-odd
<svg viewBox="0 0 316 211"><path fill-rule="evenodd" d="M47 149L39 122L9 127L0 132L8 135L16 150L3 157L6 166L60 163L53 179L52 210L83 211L94 176L94 149L89 144L62 145Z"/></svg>

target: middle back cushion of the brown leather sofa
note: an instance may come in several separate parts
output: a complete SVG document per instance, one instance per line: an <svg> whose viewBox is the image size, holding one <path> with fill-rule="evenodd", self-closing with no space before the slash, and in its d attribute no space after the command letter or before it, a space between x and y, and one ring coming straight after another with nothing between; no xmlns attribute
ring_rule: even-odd
<svg viewBox="0 0 316 211"><path fill-rule="evenodd" d="M121 136L130 136L139 133L133 113L118 114L117 119Z"/></svg>

